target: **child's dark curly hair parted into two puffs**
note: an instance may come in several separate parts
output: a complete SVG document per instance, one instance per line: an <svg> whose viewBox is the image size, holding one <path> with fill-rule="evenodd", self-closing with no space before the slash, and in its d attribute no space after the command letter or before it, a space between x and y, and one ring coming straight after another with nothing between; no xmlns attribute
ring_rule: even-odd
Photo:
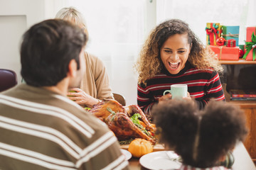
<svg viewBox="0 0 256 170"><path fill-rule="evenodd" d="M198 168L218 164L221 156L247 135L245 115L223 101L210 101L199 111L192 101L166 101L152 109L161 141Z"/></svg>

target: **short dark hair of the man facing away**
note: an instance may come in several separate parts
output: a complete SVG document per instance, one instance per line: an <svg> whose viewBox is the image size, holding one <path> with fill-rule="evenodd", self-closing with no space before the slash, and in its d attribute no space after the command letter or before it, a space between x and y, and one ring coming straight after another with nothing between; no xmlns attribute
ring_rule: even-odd
<svg viewBox="0 0 256 170"><path fill-rule="evenodd" d="M31 86L55 86L67 76L70 60L80 69L79 55L86 41L83 30L68 21L37 23L23 35L21 76Z"/></svg>

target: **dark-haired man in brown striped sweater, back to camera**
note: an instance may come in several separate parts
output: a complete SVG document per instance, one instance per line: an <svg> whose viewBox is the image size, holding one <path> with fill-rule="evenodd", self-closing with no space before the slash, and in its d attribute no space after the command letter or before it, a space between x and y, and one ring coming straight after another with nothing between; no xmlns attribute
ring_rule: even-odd
<svg viewBox="0 0 256 170"><path fill-rule="evenodd" d="M0 94L0 169L128 169L107 125L66 95L85 71L86 35L63 20L29 28L20 84Z"/></svg>

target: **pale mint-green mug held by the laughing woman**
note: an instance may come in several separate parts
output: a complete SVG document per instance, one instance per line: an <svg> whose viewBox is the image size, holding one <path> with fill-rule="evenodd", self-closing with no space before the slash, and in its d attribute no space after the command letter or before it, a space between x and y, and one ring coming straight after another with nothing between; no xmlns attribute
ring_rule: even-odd
<svg viewBox="0 0 256 170"><path fill-rule="evenodd" d="M174 99L181 99L183 97L187 97L188 96L188 85L173 84L173 85L171 85L171 90L164 91L164 95L166 95L166 93L170 93L172 96L171 98L174 98Z"/></svg>

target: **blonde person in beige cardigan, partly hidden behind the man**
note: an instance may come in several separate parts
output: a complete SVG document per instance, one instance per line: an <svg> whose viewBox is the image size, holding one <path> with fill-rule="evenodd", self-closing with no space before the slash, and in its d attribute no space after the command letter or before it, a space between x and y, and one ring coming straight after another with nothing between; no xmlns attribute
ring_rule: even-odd
<svg viewBox="0 0 256 170"><path fill-rule="evenodd" d="M76 8L62 8L58 11L55 18L70 21L82 28L88 36L85 19ZM101 100L112 99L113 94L107 70L102 60L85 52L85 64L85 76L82 79L80 88L70 89L71 92L68 93L68 96L80 106L92 108L93 105Z"/></svg>

